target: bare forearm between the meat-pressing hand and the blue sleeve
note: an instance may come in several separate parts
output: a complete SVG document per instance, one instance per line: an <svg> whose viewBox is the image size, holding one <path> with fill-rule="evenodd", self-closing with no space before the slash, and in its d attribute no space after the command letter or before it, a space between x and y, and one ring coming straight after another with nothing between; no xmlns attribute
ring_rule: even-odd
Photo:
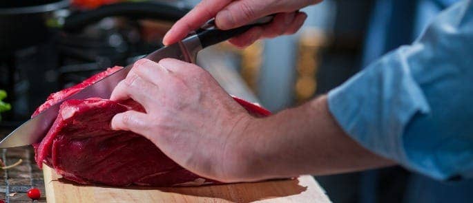
<svg viewBox="0 0 473 203"><path fill-rule="evenodd" d="M327 97L257 119L246 129L241 148L245 179L327 175L386 167L394 162L376 156L352 140L331 116Z"/></svg>

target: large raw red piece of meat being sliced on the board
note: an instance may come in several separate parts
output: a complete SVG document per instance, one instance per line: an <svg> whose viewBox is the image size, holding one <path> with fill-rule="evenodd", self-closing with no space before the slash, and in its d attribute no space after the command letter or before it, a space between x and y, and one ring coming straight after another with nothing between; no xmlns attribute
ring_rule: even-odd
<svg viewBox="0 0 473 203"><path fill-rule="evenodd" d="M51 94L33 116L120 68L109 68L83 83ZM270 114L245 100L235 100L254 116ZM46 163L59 175L80 184L196 186L218 183L180 167L143 136L110 129L113 116L130 109L144 111L134 100L66 100L44 139L33 145L38 166Z"/></svg>

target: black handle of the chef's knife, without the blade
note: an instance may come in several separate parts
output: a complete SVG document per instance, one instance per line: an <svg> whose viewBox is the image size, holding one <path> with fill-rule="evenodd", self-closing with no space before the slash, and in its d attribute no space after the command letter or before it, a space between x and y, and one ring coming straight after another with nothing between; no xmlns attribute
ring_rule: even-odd
<svg viewBox="0 0 473 203"><path fill-rule="evenodd" d="M197 37L200 39L202 48L205 48L231 39L232 37L238 36L239 34L243 34L244 32L247 32L251 28L254 28L258 25L271 23L271 21L273 21L273 15L262 17L261 19L258 19L249 25L243 25L239 28L220 30L215 26L215 19L211 19L210 21L207 21L200 30L197 30Z"/></svg>

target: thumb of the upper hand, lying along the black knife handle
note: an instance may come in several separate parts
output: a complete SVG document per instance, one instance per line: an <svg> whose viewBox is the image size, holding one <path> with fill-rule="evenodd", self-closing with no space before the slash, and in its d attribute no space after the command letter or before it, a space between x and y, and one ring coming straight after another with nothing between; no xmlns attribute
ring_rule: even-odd
<svg viewBox="0 0 473 203"><path fill-rule="evenodd" d="M237 28L260 17L278 12L294 12L320 0L280 1L280 0L240 0L233 1L215 17L217 27L223 30Z"/></svg>

